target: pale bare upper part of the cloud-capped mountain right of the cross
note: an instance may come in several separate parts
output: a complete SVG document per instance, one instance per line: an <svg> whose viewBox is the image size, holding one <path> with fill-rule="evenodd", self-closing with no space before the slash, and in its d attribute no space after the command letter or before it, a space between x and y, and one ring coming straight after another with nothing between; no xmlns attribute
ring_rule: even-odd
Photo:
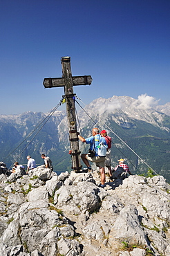
<svg viewBox="0 0 170 256"><path fill-rule="evenodd" d="M86 106L86 111L90 116L100 115L106 120L108 115L113 115L115 122L119 123L120 120L133 119L142 120L144 122L151 123L152 125L160 127L160 129L169 128L164 127L164 112L158 111L154 108L155 102L153 98L147 98L147 95L141 96L138 100L129 96L116 96L105 99L97 98ZM165 109L169 107L170 103L166 104ZM163 109L163 107L162 107ZM81 111L82 116L82 111Z"/></svg>

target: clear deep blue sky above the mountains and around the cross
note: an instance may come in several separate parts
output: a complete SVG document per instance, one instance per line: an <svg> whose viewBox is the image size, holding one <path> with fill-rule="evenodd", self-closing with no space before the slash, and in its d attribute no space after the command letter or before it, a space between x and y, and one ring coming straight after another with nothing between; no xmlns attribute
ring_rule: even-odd
<svg viewBox="0 0 170 256"><path fill-rule="evenodd" d="M62 56L73 75L93 77L74 87L86 104L145 93L170 102L169 0L6 0L0 8L0 114L53 109L64 89L44 89L43 80L62 76Z"/></svg>

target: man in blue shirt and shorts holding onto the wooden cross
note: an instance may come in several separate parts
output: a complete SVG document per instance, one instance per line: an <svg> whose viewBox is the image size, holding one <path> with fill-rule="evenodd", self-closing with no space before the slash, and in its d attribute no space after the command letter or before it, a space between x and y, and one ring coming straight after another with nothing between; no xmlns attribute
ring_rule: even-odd
<svg viewBox="0 0 170 256"><path fill-rule="evenodd" d="M100 187L104 188L104 183L105 183L105 171L104 171L104 161L106 159L106 152L105 156L99 156L99 151L98 147L100 147L100 143L102 142L105 149L107 148L106 140L99 134L99 129L98 128L93 128L92 129L92 135L89 138L83 138L82 136L78 135L79 140L82 141L82 143L90 144L90 149L88 154L82 154L81 158L84 164L86 165L86 170L91 171L91 165L89 164L88 161L91 161L96 164L97 167L100 167L100 175L101 175L101 184ZM95 151L95 152L94 152ZM93 154L91 154L93 152Z"/></svg>

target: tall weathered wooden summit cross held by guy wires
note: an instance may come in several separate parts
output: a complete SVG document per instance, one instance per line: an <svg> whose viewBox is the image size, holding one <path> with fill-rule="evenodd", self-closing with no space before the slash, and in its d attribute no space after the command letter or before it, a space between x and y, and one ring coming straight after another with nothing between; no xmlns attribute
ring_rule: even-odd
<svg viewBox="0 0 170 256"><path fill-rule="evenodd" d="M75 94L73 93L74 85L91 84L91 75L72 76L70 68L70 57L62 57L62 77L44 78L44 87L64 87L64 98L66 99L66 112L68 118L70 154L72 156L73 170L79 172L82 165L80 163L79 138L77 134L77 123L75 116Z"/></svg>

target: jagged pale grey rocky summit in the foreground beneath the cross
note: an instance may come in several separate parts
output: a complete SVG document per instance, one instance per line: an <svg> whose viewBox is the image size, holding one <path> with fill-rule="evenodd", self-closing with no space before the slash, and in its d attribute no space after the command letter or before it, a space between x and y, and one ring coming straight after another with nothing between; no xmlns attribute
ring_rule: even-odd
<svg viewBox="0 0 170 256"><path fill-rule="evenodd" d="M169 256L170 195L163 176L100 188L100 174L0 175L1 256Z"/></svg>

